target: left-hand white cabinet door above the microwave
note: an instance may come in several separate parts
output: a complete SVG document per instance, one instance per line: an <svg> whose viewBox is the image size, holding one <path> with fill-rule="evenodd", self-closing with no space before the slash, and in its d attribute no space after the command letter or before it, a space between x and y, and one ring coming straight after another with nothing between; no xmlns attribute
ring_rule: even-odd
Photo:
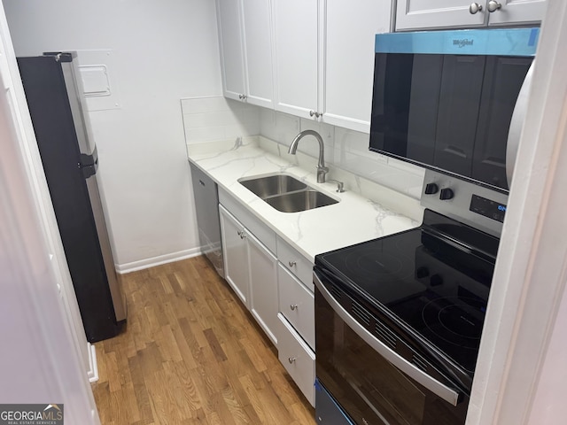
<svg viewBox="0 0 567 425"><path fill-rule="evenodd" d="M439 28L439 27L480 27L486 21L486 0L477 0L482 11L470 13L474 0L398 0L396 30Z"/></svg>

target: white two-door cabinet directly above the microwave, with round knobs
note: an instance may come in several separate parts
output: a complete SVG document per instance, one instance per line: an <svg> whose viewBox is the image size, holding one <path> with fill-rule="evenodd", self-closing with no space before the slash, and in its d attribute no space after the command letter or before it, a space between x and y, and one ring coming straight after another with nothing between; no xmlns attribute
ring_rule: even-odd
<svg viewBox="0 0 567 425"><path fill-rule="evenodd" d="M538 23L545 0L398 0L396 30Z"/></svg>

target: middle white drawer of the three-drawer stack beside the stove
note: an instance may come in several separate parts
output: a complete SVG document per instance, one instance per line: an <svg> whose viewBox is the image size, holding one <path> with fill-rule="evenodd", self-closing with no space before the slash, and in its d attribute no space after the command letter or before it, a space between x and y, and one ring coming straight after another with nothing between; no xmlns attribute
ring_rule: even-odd
<svg viewBox="0 0 567 425"><path fill-rule="evenodd" d="M315 351L315 296L281 263L277 265L279 311Z"/></svg>

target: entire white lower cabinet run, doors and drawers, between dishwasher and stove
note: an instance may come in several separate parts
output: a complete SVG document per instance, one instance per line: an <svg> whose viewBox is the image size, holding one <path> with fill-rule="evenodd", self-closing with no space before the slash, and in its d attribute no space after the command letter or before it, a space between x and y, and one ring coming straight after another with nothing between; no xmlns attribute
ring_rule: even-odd
<svg viewBox="0 0 567 425"><path fill-rule="evenodd" d="M219 201L225 278L315 406L313 264L222 189Z"/></svg>

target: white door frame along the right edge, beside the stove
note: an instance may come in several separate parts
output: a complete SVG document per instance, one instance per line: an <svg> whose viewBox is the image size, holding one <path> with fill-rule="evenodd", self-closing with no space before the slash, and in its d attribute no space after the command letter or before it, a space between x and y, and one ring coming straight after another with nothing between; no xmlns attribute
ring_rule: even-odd
<svg viewBox="0 0 567 425"><path fill-rule="evenodd" d="M536 54L467 425L564 423L567 403L567 2ZM561 314L561 316L558 316ZM550 381L549 379L552 378ZM553 389L553 390L552 390Z"/></svg>

